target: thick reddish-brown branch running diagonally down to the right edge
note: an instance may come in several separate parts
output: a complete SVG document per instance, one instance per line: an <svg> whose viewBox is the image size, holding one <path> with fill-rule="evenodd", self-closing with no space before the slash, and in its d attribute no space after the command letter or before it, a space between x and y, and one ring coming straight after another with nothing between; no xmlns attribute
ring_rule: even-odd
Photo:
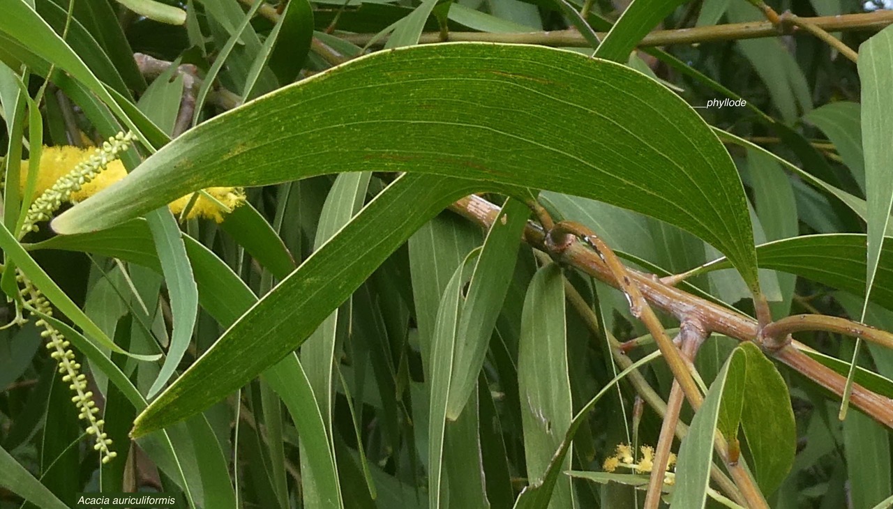
<svg viewBox="0 0 893 509"><path fill-rule="evenodd" d="M455 202L450 208L486 228L496 221L499 212L497 205L489 203L480 196L466 196ZM531 246L547 251L546 234L538 225L528 223L524 230L524 238ZM564 249L558 261L571 265L598 280L605 281L614 288L620 286L599 256L581 242L573 242L571 246ZM749 316L663 285L653 275L633 270L628 270L628 273L630 279L636 282L642 295L651 305L672 314L677 320L697 319L710 332L717 332L741 341L756 340L756 321ZM822 388L826 388L838 396L843 395L846 378L805 355L801 351L801 348L804 347L799 342L792 341L779 350L768 352L768 355L788 364L806 378L814 380ZM872 416L874 420L893 428L893 402L889 398L854 384L851 401L856 408Z"/></svg>

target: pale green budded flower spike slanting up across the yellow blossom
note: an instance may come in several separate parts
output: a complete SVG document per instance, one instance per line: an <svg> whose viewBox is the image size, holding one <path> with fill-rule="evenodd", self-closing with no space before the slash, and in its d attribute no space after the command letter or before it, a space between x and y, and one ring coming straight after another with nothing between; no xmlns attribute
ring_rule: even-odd
<svg viewBox="0 0 893 509"><path fill-rule="evenodd" d="M136 139L137 136L132 132L127 134L119 132L113 138L105 141L103 146L97 146L96 152L90 155L87 161L79 163L74 170L56 180L52 188L46 189L31 204L21 226L19 237L21 238L29 231L37 231L38 222L47 221L53 217L53 213L62 206L63 202L68 201L71 193L78 191L81 186L95 179L96 175L105 170L108 163L118 159L121 152L127 150Z"/></svg>

